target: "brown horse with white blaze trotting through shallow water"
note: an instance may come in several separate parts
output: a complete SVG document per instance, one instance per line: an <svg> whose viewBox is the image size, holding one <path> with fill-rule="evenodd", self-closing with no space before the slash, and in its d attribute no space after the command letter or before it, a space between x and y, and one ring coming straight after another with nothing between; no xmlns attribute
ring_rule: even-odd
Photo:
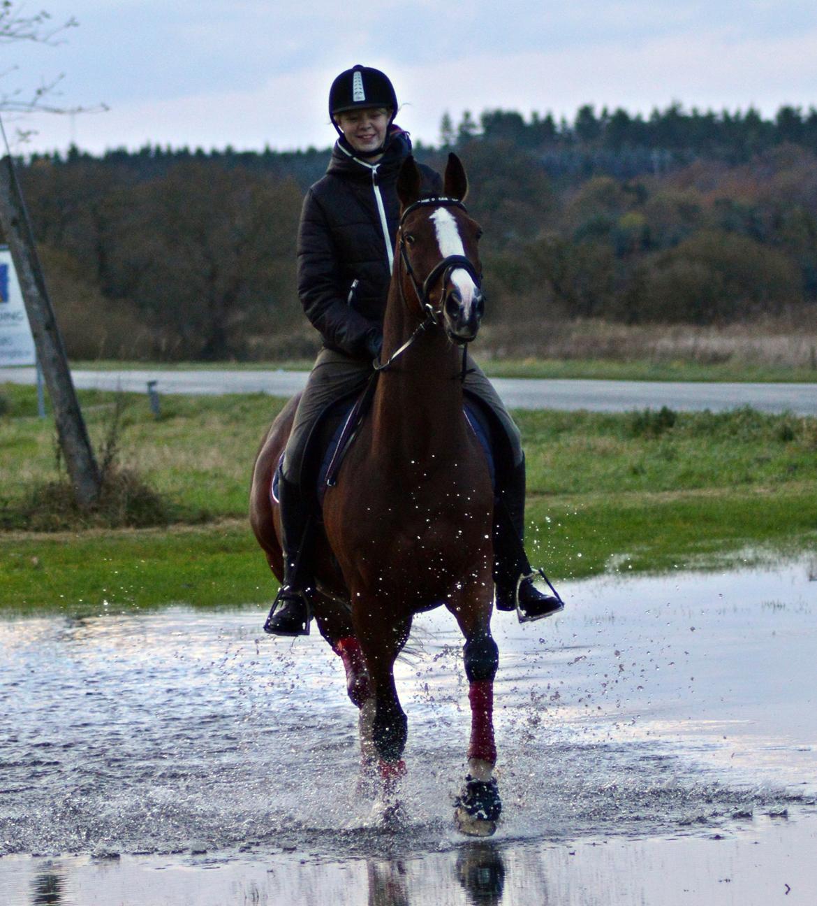
<svg viewBox="0 0 817 906"><path fill-rule="evenodd" d="M421 197L411 157L396 188L400 220L379 373L368 415L325 491L310 605L360 708L364 767L377 778L384 814L396 809L405 772L407 719L394 660L416 613L440 605L451 612L465 640L471 712L469 771L454 821L464 834L489 836L501 812L493 776L494 498L462 388L464 349L484 308L481 230L463 205L468 179L454 154L442 197ZM297 404L290 400L273 422L252 476L252 528L279 582L280 516L271 482Z"/></svg>

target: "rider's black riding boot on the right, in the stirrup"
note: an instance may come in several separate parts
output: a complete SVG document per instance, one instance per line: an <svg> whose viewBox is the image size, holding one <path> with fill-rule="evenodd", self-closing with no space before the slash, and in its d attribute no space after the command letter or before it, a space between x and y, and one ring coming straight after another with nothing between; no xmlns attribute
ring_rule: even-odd
<svg viewBox="0 0 817 906"><path fill-rule="evenodd" d="M510 469L502 481L498 472L494 501L494 583L498 611L518 609L519 620L540 620L565 606L559 593L542 570L531 568L525 553L525 461ZM553 594L544 594L534 585L539 574Z"/></svg>

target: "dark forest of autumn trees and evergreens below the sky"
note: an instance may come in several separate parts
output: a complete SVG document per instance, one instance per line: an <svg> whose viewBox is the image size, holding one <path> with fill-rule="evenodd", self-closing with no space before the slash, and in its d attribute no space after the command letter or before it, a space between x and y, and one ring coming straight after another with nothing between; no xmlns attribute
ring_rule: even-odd
<svg viewBox="0 0 817 906"><path fill-rule="evenodd" d="M398 118L399 120L399 118ZM722 324L817 313L817 111L584 106L443 117L485 229L489 321ZM303 192L329 149L21 159L74 358L309 354L295 291Z"/></svg>

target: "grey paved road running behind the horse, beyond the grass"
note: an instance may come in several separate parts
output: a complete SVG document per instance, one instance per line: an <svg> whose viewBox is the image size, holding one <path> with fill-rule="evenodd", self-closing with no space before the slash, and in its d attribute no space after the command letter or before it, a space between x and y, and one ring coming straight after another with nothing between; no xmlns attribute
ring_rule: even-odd
<svg viewBox="0 0 817 906"><path fill-rule="evenodd" d="M73 371L81 389L144 392L157 381L163 393L216 395L269 393L288 397L300 390L305 371ZM0 383L34 382L33 368L0 368ZM497 378L506 405L517 409L623 412L669 406L674 410L723 411L752 406L765 412L790 410L817 415L817 384L681 383L677 381L562 381Z"/></svg>

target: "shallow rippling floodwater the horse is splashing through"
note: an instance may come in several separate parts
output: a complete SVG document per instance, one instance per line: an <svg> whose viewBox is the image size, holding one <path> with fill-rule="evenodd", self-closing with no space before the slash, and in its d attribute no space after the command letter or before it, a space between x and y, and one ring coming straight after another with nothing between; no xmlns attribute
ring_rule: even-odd
<svg viewBox="0 0 817 906"><path fill-rule="evenodd" d="M263 636L266 607L0 621L0 902L812 903L815 574L613 576L550 621L495 615L489 843L451 822L470 715L445 612L396 671L396 834L357 790L340 661Z"/></svg>

